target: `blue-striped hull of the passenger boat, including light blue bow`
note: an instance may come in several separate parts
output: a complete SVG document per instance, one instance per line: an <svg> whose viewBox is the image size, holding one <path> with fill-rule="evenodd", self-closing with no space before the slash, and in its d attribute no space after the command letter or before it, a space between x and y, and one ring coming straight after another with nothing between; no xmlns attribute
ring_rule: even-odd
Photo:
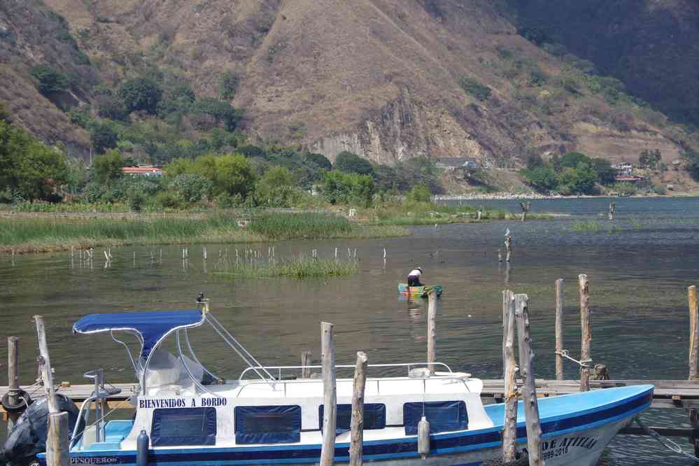
<svg viewBox="0 0 699 466"><path fill-rule="evenodd" d="M542 398L542 455L546 465L593 466L614 435L652 401L652 386L595 390ZM586 408L587 406L587 408ZM493 428L430 435L430 454L421 458L416 437L365 442L364 460L393 465L476 466L502 455L502 404L486 407ZM526 449L523 407L518 410L518 448ZM348 461L348 444L337 444L335 463ZM309 465L318 464L320 445L236 446L151 450L149 465ZM45 465L43 455L39 458ZM134 465L135 451L71 452L71 465Z"/></svg>

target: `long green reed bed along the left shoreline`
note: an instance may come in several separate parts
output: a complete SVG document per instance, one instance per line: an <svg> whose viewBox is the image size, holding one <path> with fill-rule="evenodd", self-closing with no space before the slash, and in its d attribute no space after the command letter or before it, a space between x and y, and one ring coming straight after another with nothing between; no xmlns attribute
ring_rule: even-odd
<svg viewBox="0 0 699 466"><path fill-rule="evenodd" d="M253 243L278 239L404 236L400 227L357 225L327 213L263 213L246 227L239 216L209 214L97 214L0 216L0 251L47 252L95 246Z"/></svg>

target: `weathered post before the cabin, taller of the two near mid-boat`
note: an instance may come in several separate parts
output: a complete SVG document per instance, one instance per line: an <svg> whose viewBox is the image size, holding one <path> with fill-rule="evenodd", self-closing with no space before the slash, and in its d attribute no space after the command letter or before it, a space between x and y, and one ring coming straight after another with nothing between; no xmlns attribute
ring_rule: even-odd
<svg viewBox="0 0 699 466"><path fill-rule="evenodd" d="M335 429L337 428L337 387L335 386L335 346L332 323L320 324L323 358L323 446L320 466L332 466L335 459Z"/></svg>

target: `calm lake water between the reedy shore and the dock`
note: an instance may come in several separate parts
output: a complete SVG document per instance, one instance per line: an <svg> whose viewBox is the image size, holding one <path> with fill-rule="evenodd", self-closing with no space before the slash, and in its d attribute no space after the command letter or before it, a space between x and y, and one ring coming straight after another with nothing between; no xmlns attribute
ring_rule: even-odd
<svg viewBox="0 0 699 466"><path fill-rule="evenodd" d="M21 338L22 383L36 377L34 314L46 321L56 381L85 383L83 372L102 367L108 381L129 382L132 370L120 346L106 335L73 336L73 322L94 312L193 308L203 291L211 311L267 365L297 365L304 350L318 359L321 320L335 324L338 363L353 364L358 350L367 352L369 362L418 362L426 358L426 303L400 299L396 285L419 265L425 283L444 286L437 317L440 361L483 379L502 376L501 292L507 287L530 297L535 371L537 377L552 378L553 283L565 281L565 347L579 355L577 276L588 274L595 362L604 362L616 379L684 379L686 288L699 284L699 199L614 200L613 222L606 219L609 199L535 200L533 212L570 216L418 227L398 239L275 243L276 257L307 254L311 248L332 257L337 247L346 260L347 249L356 248L360 273L325 280L231 281L216 274L222 245L208 246L206 262L202 247L190 246L185 263L181 246L112 248L108 268L102 248L95 250L92 267L81 267L65 252L14 260L5 255L0 257L0 328L3 337ZM519 211L518 202L471 204ZM509 267L497 261L508 228L514 243ZM268 246L251 247L267 257ZM241 245L228 245L229 260L236 247L243 255ZM192 332L192 343L202 361L219 372L232 377L243 368L204 329ZM2 385L5 361L2 344ZM566 378L577 378L577 372L566 366ZM649 416L654 424L686 421L682 411L654 410ZM686 439L679 440L691 451ZM692 464L652 439L629 436L617 437L603 463Z"/></svg>

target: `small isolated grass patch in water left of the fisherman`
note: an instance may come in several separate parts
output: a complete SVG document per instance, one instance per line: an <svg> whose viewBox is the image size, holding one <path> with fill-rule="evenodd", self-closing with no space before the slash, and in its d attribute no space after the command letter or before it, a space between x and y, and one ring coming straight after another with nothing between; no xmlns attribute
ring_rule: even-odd
<svg viewBox="0 0 699 466"><path fill-rule="evenodd" d="M359 272L357 260L292 259L237 260L217 264L215 274L224 278L327 278L348 276Z"/></svg>

